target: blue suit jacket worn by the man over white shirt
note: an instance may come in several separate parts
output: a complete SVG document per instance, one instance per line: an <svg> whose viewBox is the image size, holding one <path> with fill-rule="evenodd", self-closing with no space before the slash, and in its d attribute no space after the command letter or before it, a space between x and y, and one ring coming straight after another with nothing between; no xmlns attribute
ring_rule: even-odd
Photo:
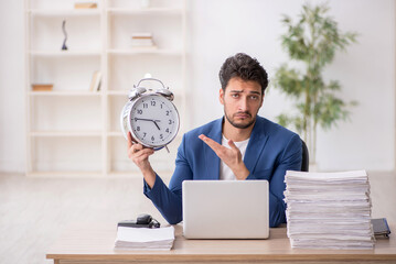
<svg viewBox="0 0 396 264"><path fill-rule="evenodd" d="M221 160L200 134L222 144L223 118L183 135L178 150L175 170L169 188L157 175L152 189L145 183L143 193L171 224L182 221L182 183L185 179L218 179ZM286 222L283 201L287 169L300 170L301 140L296 133L265 118L257 117L246 148L244 163L250 172L248 179L269 182L269 224ZM220 194L221 195L221 194Z"/></svg>

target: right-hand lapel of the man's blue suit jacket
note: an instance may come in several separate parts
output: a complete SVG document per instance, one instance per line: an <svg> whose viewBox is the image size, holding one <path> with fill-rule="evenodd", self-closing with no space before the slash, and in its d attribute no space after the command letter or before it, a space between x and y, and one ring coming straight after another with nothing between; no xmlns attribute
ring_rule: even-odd
<svg viewBox="0 0 396 264"><path fill-rule="evenodd" d="M257 117L244 157L245 166L250 172L250 174L254 173L258 157L261 155L264 146L268 140L268 134L266 133L265 129L265 119Z"/></svg>

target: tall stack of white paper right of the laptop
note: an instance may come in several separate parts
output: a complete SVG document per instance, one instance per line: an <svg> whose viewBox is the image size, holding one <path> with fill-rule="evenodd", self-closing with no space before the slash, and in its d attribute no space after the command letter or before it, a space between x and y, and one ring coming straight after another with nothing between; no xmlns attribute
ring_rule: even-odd
<svg viewBox="0 0 396 264"><path fill-rule="evenodd" d="M370 184L365 170L285 177L287 231L292 248L372 249Z"/></svg>

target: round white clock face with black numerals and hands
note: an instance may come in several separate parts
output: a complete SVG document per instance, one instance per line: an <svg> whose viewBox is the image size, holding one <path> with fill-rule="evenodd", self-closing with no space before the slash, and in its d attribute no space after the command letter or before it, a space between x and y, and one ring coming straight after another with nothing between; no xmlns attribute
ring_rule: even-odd
<svg viewBox="0 0 396 264"><path fill-rule="evenodd" d="M176 108L159 95L140 97L132 105L129 118L132 136L146 146L164 146L179 131Z"/></svg>

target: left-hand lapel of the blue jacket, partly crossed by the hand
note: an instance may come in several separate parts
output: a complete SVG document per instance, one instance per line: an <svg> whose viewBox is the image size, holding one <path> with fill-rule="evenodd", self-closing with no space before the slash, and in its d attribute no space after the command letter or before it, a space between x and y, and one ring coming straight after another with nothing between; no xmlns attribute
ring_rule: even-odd
<svg viewBox="0 0 396 264"><path fill-rule="evenodd" d="M206 134L218 144L222 144L223 119L216 120L212 130ZM204 143L204 156L206 158L206 179L220 179L220 157Z"/></svg>

